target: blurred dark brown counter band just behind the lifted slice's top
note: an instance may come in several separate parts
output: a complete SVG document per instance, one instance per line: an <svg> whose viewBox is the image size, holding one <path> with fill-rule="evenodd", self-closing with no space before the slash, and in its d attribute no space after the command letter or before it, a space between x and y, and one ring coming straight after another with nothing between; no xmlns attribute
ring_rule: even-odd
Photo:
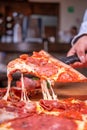
<svg viewBox="0 0 87 130"><path fill-rule="evenodd" d="M70 48L70 44L63 43L0 43L0 52L6 53L32 53L40 50L45 50L49 53L65 53Z"/></svg>

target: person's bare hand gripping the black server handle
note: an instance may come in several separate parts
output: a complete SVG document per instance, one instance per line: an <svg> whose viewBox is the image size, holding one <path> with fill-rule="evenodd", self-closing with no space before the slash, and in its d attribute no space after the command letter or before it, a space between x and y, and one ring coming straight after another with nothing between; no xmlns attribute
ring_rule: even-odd
<svg viewBox="0 0 87 130"><path fill-rule="evenodd" d="M80 37L77 42L73 45L73 47L67 53L67 56L71 56L77 54L81 63L87 62L87 36L84 35Z"/></svg>

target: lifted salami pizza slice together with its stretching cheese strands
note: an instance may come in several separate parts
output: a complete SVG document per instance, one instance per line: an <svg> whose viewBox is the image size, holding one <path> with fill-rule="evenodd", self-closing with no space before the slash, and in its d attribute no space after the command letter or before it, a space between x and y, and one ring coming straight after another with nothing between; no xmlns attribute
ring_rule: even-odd
<svg viewBox="0 0 87 130"><path fill-rule="evenodd" d="M4 96L7 100L9 95L12 74L21 72L22 94L21 100L27 101L23 74L31 74L40 79L43 98L46 100L57 99L52 86L55 82L76 82L86 80L86 77L75 69L53 58L47 52L33 52L32 56L26 54L11 61L7 66L8 89Z"/></svg>

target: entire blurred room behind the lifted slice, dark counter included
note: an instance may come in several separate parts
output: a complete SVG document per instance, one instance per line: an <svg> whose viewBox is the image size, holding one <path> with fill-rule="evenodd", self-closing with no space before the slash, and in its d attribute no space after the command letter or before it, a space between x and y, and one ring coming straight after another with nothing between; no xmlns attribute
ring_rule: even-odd
<svg viewBox="0 0 87 130"><path fill-rule="evenodd" d="M8 62L22 53L66 56L86 9L86 0L0 0L1 81ZM87 75L86 68L79 71Z"/></svg>

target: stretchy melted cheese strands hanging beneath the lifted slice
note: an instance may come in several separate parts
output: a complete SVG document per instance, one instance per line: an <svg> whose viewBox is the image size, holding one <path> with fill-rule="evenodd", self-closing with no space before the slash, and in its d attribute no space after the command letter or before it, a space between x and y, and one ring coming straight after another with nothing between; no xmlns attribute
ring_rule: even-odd
<svg viewBox="0 0 87 130"><path fill-rule="evenodd" d="M23 74L21 74L21 84L22 84L21 101L24 101L24 102L30 101L28 96L27 96L27 92L25 90ZM53 88L51 86L51 82L49 82L49 85L50 86L48 88L47 87L47 81L41 80L41 88L42 88L43 99L44 100L52 100L52 99L56 100L57 96L55 95L55 93L53 91ZM7 100L8 97L9 97L10 88L11 88L11 79L8 77L8 87L7 87L7 92L6 92L5 96L3 97L4 100ZM49 90L51 91L51 94L50 94Z"/></svg>

